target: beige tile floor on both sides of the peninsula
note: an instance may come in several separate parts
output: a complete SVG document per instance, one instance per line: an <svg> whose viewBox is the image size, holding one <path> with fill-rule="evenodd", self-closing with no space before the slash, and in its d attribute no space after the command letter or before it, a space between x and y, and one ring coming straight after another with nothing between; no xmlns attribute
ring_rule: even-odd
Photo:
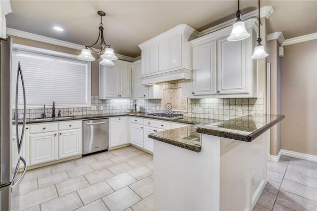
<svg viewBox="0 0 317 211"><path fill-rule="evenodd" d="M254 211L317 210L316 162L282 156L267 169ZM125 147L30 170L13 198L19 211L151 211L153 156Z"/></svg>

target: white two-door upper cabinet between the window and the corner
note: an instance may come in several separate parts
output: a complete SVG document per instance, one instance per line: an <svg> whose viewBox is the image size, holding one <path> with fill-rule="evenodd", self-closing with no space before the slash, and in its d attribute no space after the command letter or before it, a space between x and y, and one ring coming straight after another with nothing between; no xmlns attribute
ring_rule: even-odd
<svg viewBox="0 0 317 211"><path fill-rule="evenodd" d="M130 62L114 61L113 66L99 65L99 98L131 98Z"/></svg>

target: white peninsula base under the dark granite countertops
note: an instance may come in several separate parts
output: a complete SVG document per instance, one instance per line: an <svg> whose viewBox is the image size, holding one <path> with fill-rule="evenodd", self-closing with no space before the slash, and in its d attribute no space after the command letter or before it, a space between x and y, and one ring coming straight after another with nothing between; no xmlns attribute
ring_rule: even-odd
<svg viewBox="0 0 317 211"><path fill-rule="evenodd" d="M199 153L155 140L155 210L252 211L267 181L267 135L244 142L202 134Z"/></svg>

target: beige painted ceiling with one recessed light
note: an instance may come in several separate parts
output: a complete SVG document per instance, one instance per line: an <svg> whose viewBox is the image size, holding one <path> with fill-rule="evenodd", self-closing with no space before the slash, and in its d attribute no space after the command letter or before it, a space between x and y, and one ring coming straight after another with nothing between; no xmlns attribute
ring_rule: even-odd
<svg viewBox="0 0 317 211"><path fill-rule="evenodd" d="M198 31L235 17L236 0L10 0L7 27L79 45L92 45L103 18L106 43L115 53L137 57L138 45L186 23ZM317 32L317 0L261 0L271 5L267 33L285 39ZM242 14L258 8L257 0L240 0ZM53 30L53 26L64 32Z"/></svg>

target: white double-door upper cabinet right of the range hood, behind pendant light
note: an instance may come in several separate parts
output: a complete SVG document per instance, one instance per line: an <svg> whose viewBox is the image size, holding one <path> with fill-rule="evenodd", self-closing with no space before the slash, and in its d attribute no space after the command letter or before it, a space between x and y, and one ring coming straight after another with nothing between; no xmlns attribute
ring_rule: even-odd
<svg viewBox="0 0 317 211"><path fill-rule="evenodd" d="M251 37L229 42L231 26L190 41L193 47L193 80L183 96L189 98L256 98L256 62L251 58L256 45L257 20L245 21ZM191 86L190 86L191 85Z"/></svg>

